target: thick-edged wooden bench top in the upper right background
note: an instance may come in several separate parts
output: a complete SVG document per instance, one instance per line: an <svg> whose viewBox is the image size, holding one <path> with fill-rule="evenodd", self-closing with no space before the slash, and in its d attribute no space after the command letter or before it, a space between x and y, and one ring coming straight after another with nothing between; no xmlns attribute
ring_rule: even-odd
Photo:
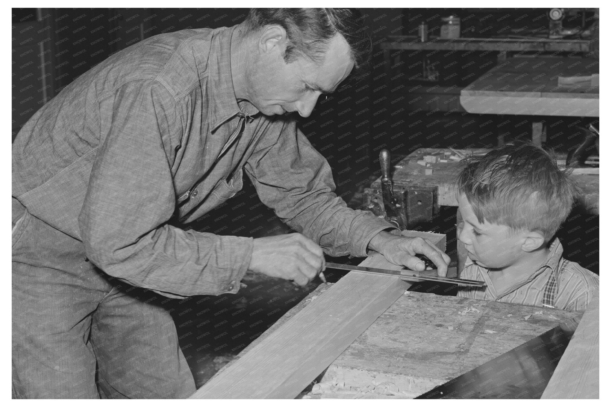
<svg viewBox="0 0 611 407"><path fill-rule="evenodd" d="M513 57L464 87L460 103L469 113L598 117L598 85L558 86L558 77L598 73L598 59Z"/></svg>

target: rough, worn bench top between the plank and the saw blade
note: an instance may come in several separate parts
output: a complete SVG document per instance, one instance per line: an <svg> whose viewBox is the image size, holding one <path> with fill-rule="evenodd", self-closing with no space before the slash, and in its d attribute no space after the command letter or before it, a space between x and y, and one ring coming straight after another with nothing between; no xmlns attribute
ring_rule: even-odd
<svg viewBox="0 0 611 407"><path fill-rule="evenodd" d="M360 398L376 383L417 397L580 314L406 292L329 366L321 383L334 391L318 397Z"/></svg>

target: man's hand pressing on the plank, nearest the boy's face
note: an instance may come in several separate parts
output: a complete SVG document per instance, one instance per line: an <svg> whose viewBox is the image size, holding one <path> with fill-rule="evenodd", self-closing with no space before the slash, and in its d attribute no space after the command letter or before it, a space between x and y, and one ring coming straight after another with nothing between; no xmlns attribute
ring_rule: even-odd
<svg viewBox="0 0 611 407"><path fill-rule="evenodd" d="M381 253L387 261L421 271L425 265L415 254L424 254L437 266L437 275L445 277L450 257L439 250L430 240L422 237L395 236L381 231L369 242L369 248Z"/></svg>

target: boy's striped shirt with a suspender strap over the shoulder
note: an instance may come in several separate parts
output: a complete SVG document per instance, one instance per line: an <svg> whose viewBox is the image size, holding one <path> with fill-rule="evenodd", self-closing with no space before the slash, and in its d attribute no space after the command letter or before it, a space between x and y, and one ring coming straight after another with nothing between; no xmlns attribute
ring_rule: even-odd
<svg viewBox="0 0 611 407"><path fill-rule="evenodd" d="M458 287L458 297L584 311L595 292L598 292L599 278L576 262L563 259L562 251L560 240L555 239L546 261L527 278L503 292L497 292L492 286L488 268L467 258L460 277L485 281L486 285Z"/></svg>

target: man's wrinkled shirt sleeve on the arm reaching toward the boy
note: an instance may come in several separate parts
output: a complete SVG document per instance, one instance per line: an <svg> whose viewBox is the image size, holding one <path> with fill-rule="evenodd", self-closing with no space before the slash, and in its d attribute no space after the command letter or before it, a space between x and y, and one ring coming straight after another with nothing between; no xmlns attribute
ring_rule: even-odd
<svg viewBox="0 0 611 407"><path fill-rule="evenodd" d="M295 121L276 126L282 128L266 134L245 166L263 203L331 256L367 256L371 238L393 226L335 195L331 167Z"/></svg>

